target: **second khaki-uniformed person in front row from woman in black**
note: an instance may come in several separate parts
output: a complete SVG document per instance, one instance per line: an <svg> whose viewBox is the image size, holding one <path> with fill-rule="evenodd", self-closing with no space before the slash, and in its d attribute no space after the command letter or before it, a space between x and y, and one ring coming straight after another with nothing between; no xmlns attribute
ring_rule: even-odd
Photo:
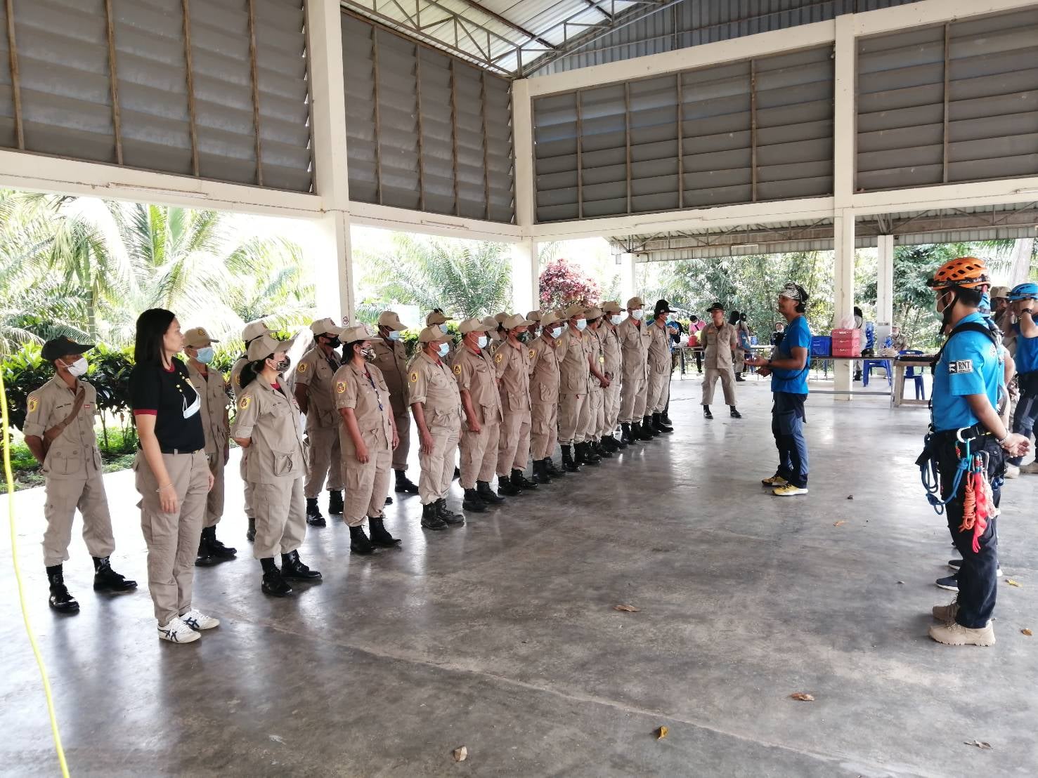
<svg viewBox="0 0 1038 778"><path fill-rule="evenodd" d="M338 434L346 474L343 518L350 527L350 551L371 554L376 546L400 544L385 528L382 507L389 495L393 449L400 444L389 385L365 355L375 333L365 325L348 327L342 335L343 366L334 377L335 407L343 419ZM364 519L371 537L364 534Z"/></svg>

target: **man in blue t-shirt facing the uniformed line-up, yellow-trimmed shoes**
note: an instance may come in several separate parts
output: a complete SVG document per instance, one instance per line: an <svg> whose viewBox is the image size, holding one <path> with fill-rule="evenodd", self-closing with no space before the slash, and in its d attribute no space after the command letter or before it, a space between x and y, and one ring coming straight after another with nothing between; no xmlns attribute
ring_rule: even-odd
<svg viewBox="0 0 1038 778"><path fill-rule="evenodd" d="M773 489L778 497L808 494L808 442L803 438L803 404L808 399L808 362L811 353L811 328L803 312L808 293L795 283L787 283L778 293L778 312L787 322L786 334L775 346L771 359L747 357L759 376L771 376L771 434L778 449L778 468L761 483Z"/></svg>

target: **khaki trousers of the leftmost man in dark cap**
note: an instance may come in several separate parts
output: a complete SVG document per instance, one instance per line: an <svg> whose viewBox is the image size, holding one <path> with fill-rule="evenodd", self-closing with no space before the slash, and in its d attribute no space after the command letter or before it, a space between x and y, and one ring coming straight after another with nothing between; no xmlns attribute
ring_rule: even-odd
<svg viewBox="0 0 1038 778"><path fill-rule="evenodd" d="M111 556L115 551L112 518L108 512L108 497L101 469L87 465L89 472L71 478L47 479L47 504L44 518L44 565L52 567L69 559L72 523L76 508L83 515L83 543L90 556Z"/></svg>

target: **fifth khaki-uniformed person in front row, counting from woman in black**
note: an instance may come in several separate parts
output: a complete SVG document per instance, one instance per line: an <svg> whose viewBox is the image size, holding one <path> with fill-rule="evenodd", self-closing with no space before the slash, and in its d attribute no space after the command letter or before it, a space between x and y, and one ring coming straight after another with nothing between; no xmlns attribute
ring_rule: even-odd
<svg viewBox="0 0 1038 778"><path fill-rule="evenodd" d="M532 324L521 313L501 322L507 339L494 353L501 398L501 434L497 443L497 488L512 497L537 483L523 475L529 459L529 370L532 354L520 335Z"/></svg>

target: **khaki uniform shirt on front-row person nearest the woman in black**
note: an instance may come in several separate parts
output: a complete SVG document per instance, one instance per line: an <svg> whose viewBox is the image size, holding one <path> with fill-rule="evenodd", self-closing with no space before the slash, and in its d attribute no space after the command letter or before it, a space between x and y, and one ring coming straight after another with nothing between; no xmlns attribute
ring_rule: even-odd
<svg viewBox="0 0 1038 778"><path fill-rule="evenodd" d="M238 399L231 425L235 438L249 438L245 480L283 483L303 477L303 436L299 432L299 404L281 384L274 389L257 376Z"/></svg>

